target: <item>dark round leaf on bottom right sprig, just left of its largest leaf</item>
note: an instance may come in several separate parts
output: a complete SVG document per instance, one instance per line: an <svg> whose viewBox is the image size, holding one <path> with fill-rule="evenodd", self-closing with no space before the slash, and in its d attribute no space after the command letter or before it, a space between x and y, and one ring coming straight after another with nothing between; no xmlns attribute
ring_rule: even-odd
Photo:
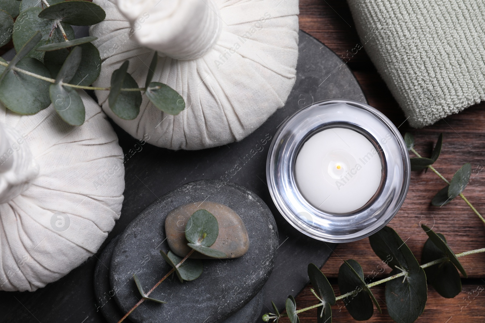
<svg viewBox="0 0 485 323"><path fill-rule="evenodd" d="M374 312L372 302L382 313L377 300L364 281L364 272L360 264L349 259L344 261L339 269L339 289L340 294L354 292L351 296L344 299L345 307L350 315L357 321L369 320Z"/></svg>

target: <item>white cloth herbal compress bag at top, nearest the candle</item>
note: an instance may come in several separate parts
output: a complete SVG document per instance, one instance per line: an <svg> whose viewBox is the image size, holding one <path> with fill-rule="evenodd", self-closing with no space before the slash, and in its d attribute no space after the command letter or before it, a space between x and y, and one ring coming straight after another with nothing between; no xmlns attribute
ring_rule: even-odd
<svg viewBox="0 0 485 323"><path fill-rule="evenodd" d="M133 137L170 149L202 149L238 141L281 108L296 78L297 0L94 0L106 19L98 37L101 74L129 61L128 73L145 84L155 51L153 81L177 91L185 109L170 115L143 95L134 120L115 116L108 91L99 104ZM147 136L147 137L148 137Z"/></svg>

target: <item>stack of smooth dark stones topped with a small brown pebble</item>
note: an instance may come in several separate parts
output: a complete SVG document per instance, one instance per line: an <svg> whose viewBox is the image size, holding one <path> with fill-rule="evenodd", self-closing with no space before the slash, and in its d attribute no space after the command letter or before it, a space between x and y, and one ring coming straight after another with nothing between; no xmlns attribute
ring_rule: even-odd
<svg viewBox="0 0 485 323"><path fill-rule="evenodd" d="M182 185L152 203L103 250L95 271L95 293L98 310L108 322L118 322L141 298L133 274L148 291L172 269L159 250L172 250L179 256L187 253L183 224L199 208L217 218L219 236L211 248L224 251L228 259L202 260L204 271L192 281L180 283L173 275L167 278L150 294L167 303L145 301L129 315L129 320L258 320L263 306L262 288L276 258L275 219L266 204L241 185L201 180ZM195 253L193 256L207 258Z"/></svg>

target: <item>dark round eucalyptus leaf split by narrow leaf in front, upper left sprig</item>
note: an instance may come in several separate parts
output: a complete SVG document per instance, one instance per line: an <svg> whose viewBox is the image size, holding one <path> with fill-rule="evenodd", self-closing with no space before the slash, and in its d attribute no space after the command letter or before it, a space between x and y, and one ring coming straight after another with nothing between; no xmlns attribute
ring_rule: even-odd
<svg viewBox="0 0 485 323"><path fill-rule="evenodd" d="M88 86L96 81L99 76L101 58L96 46L91 43L81 44L82 48L81 63L74 77L69 81L70 84ZM69 55L67 49L59 49L55 51L46 52L44 56L44 64L49 69L53 77L57 76L65 59Z"/></svg>

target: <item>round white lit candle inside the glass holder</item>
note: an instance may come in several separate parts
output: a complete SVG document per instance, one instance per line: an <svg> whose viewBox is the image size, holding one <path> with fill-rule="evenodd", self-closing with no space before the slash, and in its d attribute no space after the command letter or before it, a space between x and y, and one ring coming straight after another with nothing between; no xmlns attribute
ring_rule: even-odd
<svg viewBox="0 0 485 323"><path fill-rule="evenodd" d="M347 128L311 136L296 157L295 177L310 204L328 213L364 206L381 183L382 162L374 145Z"/></svg>

